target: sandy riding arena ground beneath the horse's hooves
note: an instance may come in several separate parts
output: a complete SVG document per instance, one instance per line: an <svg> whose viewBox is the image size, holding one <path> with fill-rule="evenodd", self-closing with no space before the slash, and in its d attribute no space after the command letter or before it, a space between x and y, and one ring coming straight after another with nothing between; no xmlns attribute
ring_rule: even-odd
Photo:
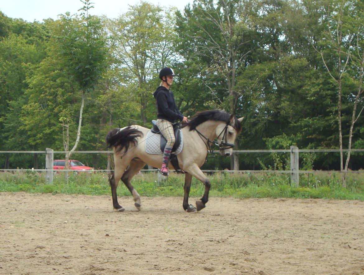
<svg viewBox="0 0 364 275"><path fill-rule="evenodd" d="M125 212L110 196L0 193L0 274L364 274L364 202L119 203Z"/></svg>

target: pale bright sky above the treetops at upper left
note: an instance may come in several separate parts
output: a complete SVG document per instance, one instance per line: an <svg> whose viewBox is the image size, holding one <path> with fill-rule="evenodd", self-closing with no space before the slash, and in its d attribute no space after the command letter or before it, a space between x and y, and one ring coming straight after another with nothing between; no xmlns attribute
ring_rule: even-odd
<svg viewBox="0 0 364 275"><path fill-rule="evenodd" d="M170 4L170 1L145 0L146 2L160 6L174 6L181 11L193 0L178 0ZM91 9L91 15L106 15L108 18L118 17L128 10L128 5L140 3L138 0L91 0L95 8ZM78 9L83 7L80 0L0 0L0 11L11 18L21 18L28 22L52 18L58 19L59 14L70 12L79 13Z"/></svg>

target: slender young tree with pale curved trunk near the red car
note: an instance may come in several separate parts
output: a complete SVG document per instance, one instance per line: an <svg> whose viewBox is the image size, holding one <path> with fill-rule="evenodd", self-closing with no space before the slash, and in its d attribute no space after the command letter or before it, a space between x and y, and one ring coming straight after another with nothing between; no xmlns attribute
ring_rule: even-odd
<svg viewBox="0 0 364 275"><path fill-rule="evenodd" d="M77 136L73 148L66 154L66 169L68 159L80 140L85 94L96 87L106 67L106 41L102 36L100 19L89 15L89 10L94 7L90 0L81 2L84 6L79 9L82 11L80 17L72 18L69 13L61 16L58 36L60 55L68 63L71 76L78 83L82 94ZM65 148L68 151L68 144Z"/></svg>

